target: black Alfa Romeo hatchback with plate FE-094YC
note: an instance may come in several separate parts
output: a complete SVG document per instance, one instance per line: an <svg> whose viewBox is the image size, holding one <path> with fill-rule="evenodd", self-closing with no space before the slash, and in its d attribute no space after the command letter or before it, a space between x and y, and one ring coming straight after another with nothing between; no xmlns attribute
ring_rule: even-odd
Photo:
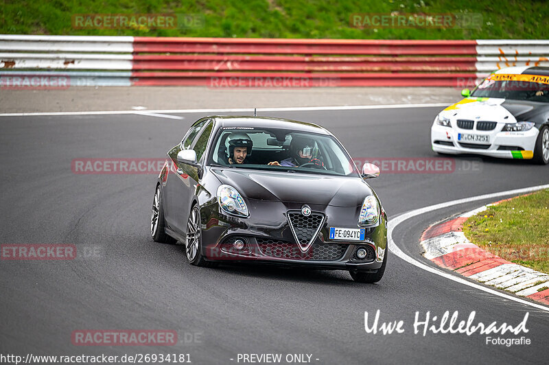
<svg viewBox="0 0 549 365"><path fill-rule="evenodd" d="M167 152L152 204L156 242L188 261L348 270L375 283L387 263L387 216L328 130L268 117L205 117Z"/></svg>

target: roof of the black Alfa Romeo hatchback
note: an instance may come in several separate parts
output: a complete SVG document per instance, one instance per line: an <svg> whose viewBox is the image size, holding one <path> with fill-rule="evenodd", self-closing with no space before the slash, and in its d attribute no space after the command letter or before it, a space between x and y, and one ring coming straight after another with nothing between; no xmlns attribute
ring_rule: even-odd
<svg viewBox="0 0 549 365"><path fill-rule="evenodd" d="M330 134L325 128L314 123L295 121L292 119L271 118L271 117L247 117L247 116L226 116L214 115L215 123L220 123L222 128L243 127L243 128L285 128L296 132L312 132L319 134Z"/></svg>

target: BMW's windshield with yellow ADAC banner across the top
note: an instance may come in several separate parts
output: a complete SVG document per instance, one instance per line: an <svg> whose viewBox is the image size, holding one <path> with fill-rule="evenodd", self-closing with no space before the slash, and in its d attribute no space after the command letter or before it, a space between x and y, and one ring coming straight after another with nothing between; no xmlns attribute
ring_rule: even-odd
<svg viewBox="0 0 549 365"><path fill-rule="evenodd" d="M545 79L547 78L533 75L492 74L476 87L471 96L549 103L549 84Z"/></svg>

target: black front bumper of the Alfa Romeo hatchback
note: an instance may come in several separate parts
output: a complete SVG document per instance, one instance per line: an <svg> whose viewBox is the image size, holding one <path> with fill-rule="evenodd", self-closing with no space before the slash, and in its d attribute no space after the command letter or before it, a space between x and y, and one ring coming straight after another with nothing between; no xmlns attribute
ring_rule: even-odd
<svg viewBox="0 0 549 365"><path fill-rule="evenodd" d="M325 214L325 220L312 246L301 252L288 224L287 212L299 210L303 204L253 200L247 200L246 204L250 211L248 218L220 213L218 204L202 208L202 255L207 260L361 272L375 272L382 266L387 248L384 213L377 226L366 228L363 241L342 242L329 239L329 227L359 228L356 220L360 207L309 204L313 212ZM231 249L235 239L242 239L246 249ZM373 258L370 255L368 259L358 259L355 254L359 247L373 252Z"/></svg>

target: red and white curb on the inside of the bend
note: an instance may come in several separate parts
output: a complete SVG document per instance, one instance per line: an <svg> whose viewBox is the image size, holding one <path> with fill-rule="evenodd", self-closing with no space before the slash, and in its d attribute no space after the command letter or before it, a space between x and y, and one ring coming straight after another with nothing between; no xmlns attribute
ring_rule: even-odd
<svg viewBox="0 0 549 365"><path fill-rule="evenodd" d="M549 305L549 274L511 263L482 250L469 242L462 232L463 224L469 217L503 201L484 205L427 228L421 235L421 246L425 250L423 256L469 279Z"/></svg>

